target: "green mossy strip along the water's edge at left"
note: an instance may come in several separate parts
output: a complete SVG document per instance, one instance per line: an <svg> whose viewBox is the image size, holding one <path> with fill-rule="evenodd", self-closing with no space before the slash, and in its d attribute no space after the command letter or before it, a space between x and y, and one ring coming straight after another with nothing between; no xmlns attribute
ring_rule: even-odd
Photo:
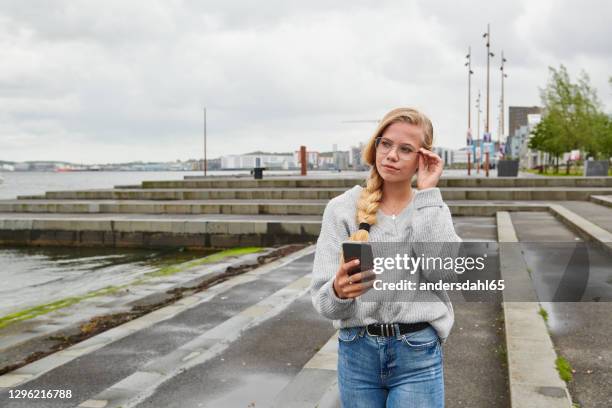
<svg viewBox="0 0 612 408"><path fill-rule="evenodd" d="M67 297L64 299L60 299L57 300L55 302L51 302L51 303L45 303L43 305L38 305L38 306L34 306L25 310L21 310L19 312L16 313L11 313L9 315L6 316L2 316L0 317L0 329L13 324L13 323L17 323L20 321L24 321L24 320L28 320L28 319L32 319L36 316L40 316L43 314L47 314L59 309L63 309L69 306L72 306L76 303L79 303L85 299L89 299L92 297L96 297L96 296L104 296L104 295L109 295L112 293L117 292L118 290L121 290L123 288L126 288L128 286L131 285L141 285L145 282L147 282L148 279L150 278L154 278L154 277L159 277L159 276L170 276L170 275L174 275L175 273L178 272L182 272L185 271L189 268L193 268L195 266L198 265L205 265L205 264L209 264L209 263L213 263L213 262L218 262L223 260L224 258L227 258L229 256L239 256L239 255L245 255L245 254L252 254L255 252L259 252L261 251L260 247L245 247L245 248L232 248L232 249L227 249L225 251L221 251L221 252L217 252L215 254L209 255L207 257L201 258L201 259L196 259L193 261L189 261L189 262L184 262L178 265L171 265L171 266L167 266L161 269L158 269L157 271L154 272L149 272L145 274L145 277L140 277L138 279L135 279L129 283L126 283L124 285L121 286L107 286L105 288L102 289L98 289L98 290L94 290L92 292L88 292L85 295L82 296L71 296L71 297Z"/></svg>

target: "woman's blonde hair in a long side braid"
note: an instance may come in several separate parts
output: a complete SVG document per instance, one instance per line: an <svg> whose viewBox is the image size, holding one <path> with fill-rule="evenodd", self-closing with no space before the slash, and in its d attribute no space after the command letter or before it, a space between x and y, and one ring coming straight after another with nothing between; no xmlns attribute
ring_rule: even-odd
<svg viewBox="0 0 612 408"><path fill-rule="evenodd" d="M368 141L363 150L363 161L372 166L370 175L366 180L366 186L361 191L357 202L357 224L376 224L376 213L382 200L383 178L376 169L376 138L382 136L385 130L393 123L404 122L421 126L425 138L423 148L431 150L433 145L433 125L425 114L413 108L396 108L385 115L380 121L376 131ZM368 241L370 234L365 229L358 229L350 236L351 241Z"/></svg>

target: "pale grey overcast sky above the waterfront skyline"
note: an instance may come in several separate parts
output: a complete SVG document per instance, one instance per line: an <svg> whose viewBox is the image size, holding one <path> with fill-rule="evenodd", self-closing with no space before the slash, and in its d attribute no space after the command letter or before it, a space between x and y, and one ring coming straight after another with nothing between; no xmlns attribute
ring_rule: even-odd
<svg viewBox="0 0 612 408"><path fill-rule="evenodd" d="M611 15L603 0L0 0L0 160L199 158L204 106L209 157L346 149L375 126L351 121L400 105L459 147L465 54L484 106L489 22L494 138L502 49L507 106L539 104L564 64L610 112Z"/></svg>

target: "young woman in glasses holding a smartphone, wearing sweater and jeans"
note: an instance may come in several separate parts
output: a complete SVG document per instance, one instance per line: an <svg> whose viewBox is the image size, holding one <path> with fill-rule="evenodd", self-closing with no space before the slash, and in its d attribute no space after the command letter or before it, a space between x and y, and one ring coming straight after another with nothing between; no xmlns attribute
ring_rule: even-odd
<svg viewBox="0 0 612 408"><path fill-rule="evenodd" d="M444 407L442 345L454 322L445 293L428 302L365 302L372 271L349 276L342 242L460 242L436 187L443 163L431 151L433 126L421 112L387 113L367 143L365 187L327 204L315 252L312 302L338 333L343 407ZM416 190L411 181L416 174ZM421 272L422 273L422 272Z"/></svg>

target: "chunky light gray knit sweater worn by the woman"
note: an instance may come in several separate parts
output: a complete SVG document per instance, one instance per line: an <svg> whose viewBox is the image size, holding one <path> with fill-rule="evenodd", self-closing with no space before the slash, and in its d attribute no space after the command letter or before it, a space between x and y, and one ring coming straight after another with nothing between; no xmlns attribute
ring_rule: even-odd
<svg viewBox="0 0 612 408"><path fill-rule="evenodd" d="M361 301L365 295L351 299L340 299L335 295L333 280L340 266L342 242L358 229L357 201L362 189L356 185L330 200L325 207L310 286L315 309L333 320L336 329L371 323L426 321L436 329L441 341L446 342L454 322L453 306L446 292L421 293L428 299L396 303ZM450 210L442 201L440 189L432 187L414 191L409 205L395 217L378 210L377 222L370 228L370 241L414 242L425 249L435 247L436 242L461 242L455 233Z"/></svg>

